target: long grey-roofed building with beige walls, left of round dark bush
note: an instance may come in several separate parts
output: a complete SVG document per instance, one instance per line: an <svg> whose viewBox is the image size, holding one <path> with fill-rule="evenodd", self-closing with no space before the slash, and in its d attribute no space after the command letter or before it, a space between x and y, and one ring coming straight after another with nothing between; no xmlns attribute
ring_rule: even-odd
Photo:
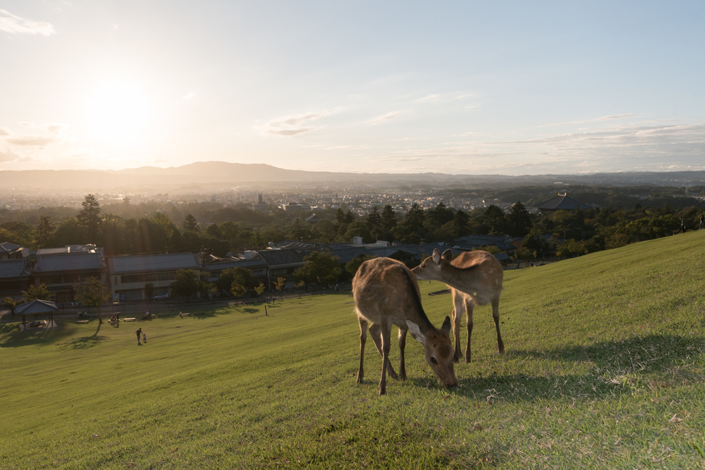
<svg viewBox="0 0 705 470"><path fill-rule="evenodd" d="M135 254L113 256L108 260L113 302L144 300L145 285L154 286L152 296L168 294L169 284L180 269L201 270L199 254Z"/></svg>

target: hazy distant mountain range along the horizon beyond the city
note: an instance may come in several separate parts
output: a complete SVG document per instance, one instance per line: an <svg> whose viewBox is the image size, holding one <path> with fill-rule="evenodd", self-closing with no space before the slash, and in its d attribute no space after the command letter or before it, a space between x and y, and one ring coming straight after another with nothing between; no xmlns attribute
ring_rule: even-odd
<svg viewBox="0 0 705 470"><path fill-rule="evenodd" d="M158 168L142 166L120 171L112 170L24 170L0 171L0 190L6 192L34 190L77 190L84 192L111 192L130 189L149 190L216 190L224 185L296 185L305 183L370 183L384 187L408 184L452 185L480 187L486 185L537 185L546 183L586 183L612 185L667 184L703 185L705 171L671 173L593 173L589 175L448 175L444 173L334 173L329 171L286 170L264 163L227 163L198 161L184 166Z"/></svg>

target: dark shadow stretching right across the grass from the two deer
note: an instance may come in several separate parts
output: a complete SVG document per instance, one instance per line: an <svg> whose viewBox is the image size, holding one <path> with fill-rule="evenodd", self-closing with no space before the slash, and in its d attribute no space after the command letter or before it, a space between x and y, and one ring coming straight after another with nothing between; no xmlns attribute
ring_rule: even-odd
<svg viewBox="0 0 705 470"><path fill-rule="evenodd" d="M448 395L494 402L526 402L538 399L594 400L631 393L637 388L668 388L689 378L684 364L705 352L705 338L649 335L589 346L553 350L508 351L508 359L559 360L587 364L587 373L479 372L463 377L462 364L455 367L458 388L444 389L436 377L409 377L407 383L419 388L435 388ZM364 383L376 385L378 371L368 371ZM387 379L387 385L395 383ZM388 390L389 392L389 390ZM393 391L391 391L393 393Z"/></svg>

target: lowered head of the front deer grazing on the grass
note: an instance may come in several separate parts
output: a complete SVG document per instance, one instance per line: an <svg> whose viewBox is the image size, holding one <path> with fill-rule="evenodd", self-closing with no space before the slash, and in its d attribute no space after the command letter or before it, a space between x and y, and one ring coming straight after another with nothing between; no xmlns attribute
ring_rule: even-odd
<svg viewBox="0 0 705 470"><path fill-rule="evenodd" d="M450 317L446 316L446 321L443 321L441 329L431 327L425 334L411 320L407 320L406 325L412 337L424 345L426 361L436 376L441 379L443 387L450 388L458 385L458 380L453 372L455 349L450 343Z"/></svg>

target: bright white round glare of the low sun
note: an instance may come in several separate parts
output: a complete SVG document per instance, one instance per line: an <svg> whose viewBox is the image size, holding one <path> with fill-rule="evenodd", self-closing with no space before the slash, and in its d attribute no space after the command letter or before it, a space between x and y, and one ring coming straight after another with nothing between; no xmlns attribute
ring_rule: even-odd
<svg viewBox="0 0 705 470"><path fill-rule="evenodd" d="M154 106L139 87L109 82L87 95L84 116L91 137L122 147L136 144L147 135L154 120Z"/></svg>

